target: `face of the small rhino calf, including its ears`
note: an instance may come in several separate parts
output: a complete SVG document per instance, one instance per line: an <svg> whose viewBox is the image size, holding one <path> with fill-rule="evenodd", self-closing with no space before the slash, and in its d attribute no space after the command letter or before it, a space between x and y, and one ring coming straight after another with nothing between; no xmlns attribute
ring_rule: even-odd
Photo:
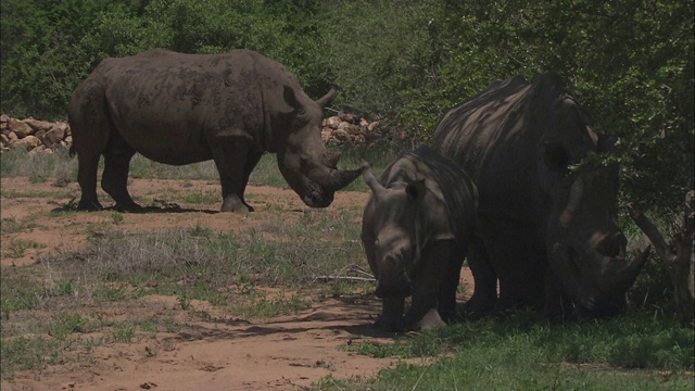
<svg viewBox="0 0 695 391"><path fill-rule="evenodd" d="M371 190L376 232L376 294L406 298L412 294L410 273L418 258L418 203L427 189L424 180L396 181L383 187L366 168L363 177Z"/></svg>

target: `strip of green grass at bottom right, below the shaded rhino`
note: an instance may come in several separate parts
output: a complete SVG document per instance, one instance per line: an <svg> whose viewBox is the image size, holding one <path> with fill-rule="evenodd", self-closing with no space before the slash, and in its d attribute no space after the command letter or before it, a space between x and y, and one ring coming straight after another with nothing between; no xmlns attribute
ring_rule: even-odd
<svg viewBox="0 0 695 391"><path fill-rule="evenodd" d="M323 379L320 390L687 390L693 330L644 311L607 320L556 325L519 313L345 349L399 357L374 379ZM412 365L404 358L441 357Z"/></svg>

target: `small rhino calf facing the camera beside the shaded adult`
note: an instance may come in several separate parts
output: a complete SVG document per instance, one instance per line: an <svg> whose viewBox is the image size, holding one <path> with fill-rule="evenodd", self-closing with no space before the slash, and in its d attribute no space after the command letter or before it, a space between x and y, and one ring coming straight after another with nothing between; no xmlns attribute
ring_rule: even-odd
<svg viewBox="0 0 695 391"><path fill-rule="evenodd" d="M371 198L362 241L382 299L376 326L388 331L443 326L456 312L460 266L473 235L476 187L456 163L426 146L391 163L380 180L370 169L363 176Z"/></svg>

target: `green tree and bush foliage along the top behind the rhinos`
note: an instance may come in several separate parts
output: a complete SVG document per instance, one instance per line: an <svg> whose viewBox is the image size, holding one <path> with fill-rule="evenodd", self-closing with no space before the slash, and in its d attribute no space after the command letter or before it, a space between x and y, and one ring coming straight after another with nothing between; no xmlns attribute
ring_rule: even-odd
<svg viewBox="0 0 695 391"><path fill-rule="evenodd" d="M669 211L693 188L693 0L3 0L0 110L65 116L108 56L257 50L309 96L427 140L495 79L558 72L618 136L623 199Z"/></svg>

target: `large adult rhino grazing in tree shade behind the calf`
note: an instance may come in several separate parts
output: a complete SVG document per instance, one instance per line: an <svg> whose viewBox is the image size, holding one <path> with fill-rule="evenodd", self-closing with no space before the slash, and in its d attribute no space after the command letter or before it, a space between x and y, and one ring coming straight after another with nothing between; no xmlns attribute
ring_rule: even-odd
<svg viewBox="0 0 695 391"><path fill-rule="evenodd" d="M626 257L618 166L601 159L614 141L592 130L556 74L492 84L445 113L432 144L480 194L470 316L525 306L561 320L624 307L649 249Z"/></svg>

